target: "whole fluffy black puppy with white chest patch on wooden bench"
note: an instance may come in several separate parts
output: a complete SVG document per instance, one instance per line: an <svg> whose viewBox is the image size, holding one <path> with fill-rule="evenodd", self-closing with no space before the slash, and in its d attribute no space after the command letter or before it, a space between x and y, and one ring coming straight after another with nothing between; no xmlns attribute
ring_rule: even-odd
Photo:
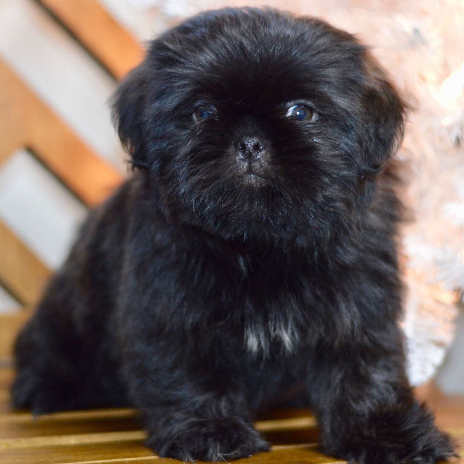
<svg viewBox="0 0 464 464"><path fill-rule="evenodd" d="M135 173L19 335L15 405L135 405L161 456L225 460L267 450L252 412L299 391L326 453L450 457L406 378L404 105L366 48L316 19L207 12L154 40L114 105Z"/></svg>

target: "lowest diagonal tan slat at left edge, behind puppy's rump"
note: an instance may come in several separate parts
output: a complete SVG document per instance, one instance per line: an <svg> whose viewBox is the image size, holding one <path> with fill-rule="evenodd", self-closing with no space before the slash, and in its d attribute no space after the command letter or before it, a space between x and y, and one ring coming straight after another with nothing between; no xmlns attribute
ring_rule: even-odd
<svg viewBox="0 0 464 464"><path fill-rule="evenodd" d="M50 274L47 266L0 221L0 282L13 296L31 306L37 302ZM0 346L3 344L4 337L0 335Z"/></svg>

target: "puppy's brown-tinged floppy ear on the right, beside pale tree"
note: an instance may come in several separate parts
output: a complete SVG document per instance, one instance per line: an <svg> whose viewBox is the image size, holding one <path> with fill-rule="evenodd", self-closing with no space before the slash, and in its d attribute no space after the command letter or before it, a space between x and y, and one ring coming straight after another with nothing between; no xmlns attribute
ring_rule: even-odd
<svg viewBox="0 0 464 464"><path fill-rule="evenodd" d="M379 174L399 148L404 134L406 104L368 52L362 95L365 117L361 120L363 177Z"/></svg>

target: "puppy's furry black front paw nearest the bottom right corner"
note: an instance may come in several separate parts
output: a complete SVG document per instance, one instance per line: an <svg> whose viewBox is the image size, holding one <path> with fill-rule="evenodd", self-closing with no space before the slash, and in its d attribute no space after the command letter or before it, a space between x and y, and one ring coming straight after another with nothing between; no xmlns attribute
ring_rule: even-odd
<svg viewBox="0 0 464 464"><path fill-rule="evenodd" d="M435 464L455 455L456 445L419 404L403 414L378 414L354 433L353 428L346 437L326 437L322 451L359 464Z"/></svg>

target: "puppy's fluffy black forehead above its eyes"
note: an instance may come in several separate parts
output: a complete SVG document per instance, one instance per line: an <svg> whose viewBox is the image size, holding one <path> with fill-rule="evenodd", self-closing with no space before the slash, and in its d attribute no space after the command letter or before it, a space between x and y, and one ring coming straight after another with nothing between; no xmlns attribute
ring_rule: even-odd
<svg viewBox="0 0 464 464"><path fill-rule="evenodd" d="M190 19L162 38L169 69L193 92L283 103L312 98L356 77L364 47L326 23L272 10L222 10Z"/></svg>

